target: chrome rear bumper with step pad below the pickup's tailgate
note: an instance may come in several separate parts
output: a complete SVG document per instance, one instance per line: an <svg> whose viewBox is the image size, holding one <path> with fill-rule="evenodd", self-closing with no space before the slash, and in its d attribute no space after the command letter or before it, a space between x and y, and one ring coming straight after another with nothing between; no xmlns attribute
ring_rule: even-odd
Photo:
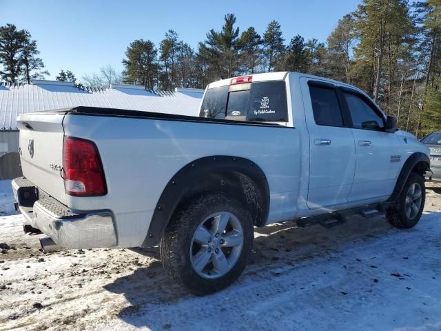
<svg viewBox="0 0 441 331"><path fill-rule="evenodd" d="M12 181L16 208L33 228L64 248L107 248L117 244L112 213L74 212L23 177Z"/></svg>

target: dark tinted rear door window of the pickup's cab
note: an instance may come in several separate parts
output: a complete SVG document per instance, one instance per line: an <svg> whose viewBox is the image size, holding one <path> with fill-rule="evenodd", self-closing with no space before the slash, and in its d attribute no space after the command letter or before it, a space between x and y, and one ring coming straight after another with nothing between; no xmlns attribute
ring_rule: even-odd
<svg viewBox="0 0 441 331"><path fill-rule="evenodd" d="M312 110L316 124L320 126L343 126L342 112L334 88L309 86Z"/></svg>

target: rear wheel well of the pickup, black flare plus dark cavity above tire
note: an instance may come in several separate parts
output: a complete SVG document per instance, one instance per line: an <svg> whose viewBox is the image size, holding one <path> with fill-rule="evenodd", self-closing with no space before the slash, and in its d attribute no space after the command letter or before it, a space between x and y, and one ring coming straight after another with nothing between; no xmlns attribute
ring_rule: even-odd
<svg viewBox="0 0 441 331"><path fill-rule="evenodd" d="M156 205L143 246L156 245L170 219L189 201L220 192L247 206L254 225L265 225L269 212L269 186L254 162L240 157L205 157L185 165L170 179Z"/></svg>

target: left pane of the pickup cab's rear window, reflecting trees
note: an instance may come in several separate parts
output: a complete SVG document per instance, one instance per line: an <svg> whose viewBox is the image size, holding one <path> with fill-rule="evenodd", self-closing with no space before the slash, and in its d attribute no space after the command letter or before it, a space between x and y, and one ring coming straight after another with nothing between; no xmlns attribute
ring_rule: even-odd
<svg viewBox="0 0 441 331"><path fill-rule="evenodd" d="M202 101L199 117L207 117L209 119L225 119L228 88L229 86L221 86L220 88L210 88L207 90Z"/></svg>

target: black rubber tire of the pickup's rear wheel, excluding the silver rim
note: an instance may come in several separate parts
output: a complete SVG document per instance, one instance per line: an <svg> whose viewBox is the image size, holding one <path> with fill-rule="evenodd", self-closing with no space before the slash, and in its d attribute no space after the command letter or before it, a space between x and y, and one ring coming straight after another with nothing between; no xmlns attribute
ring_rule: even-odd
<svg viewBox="0 0 441 331"><path fill-rule="evenodd" d="M231 270L218 278L207 279L201 277L192 266L192 238L204 219L223 211L234 214L240 221L243 245ZM177 212L167 225L159 248L167 274L194 294L205 295L222 290L236 281L247 265L253 241L252 217L243 204L225 194L214 193L192 201L187 208Z"/></svg>

